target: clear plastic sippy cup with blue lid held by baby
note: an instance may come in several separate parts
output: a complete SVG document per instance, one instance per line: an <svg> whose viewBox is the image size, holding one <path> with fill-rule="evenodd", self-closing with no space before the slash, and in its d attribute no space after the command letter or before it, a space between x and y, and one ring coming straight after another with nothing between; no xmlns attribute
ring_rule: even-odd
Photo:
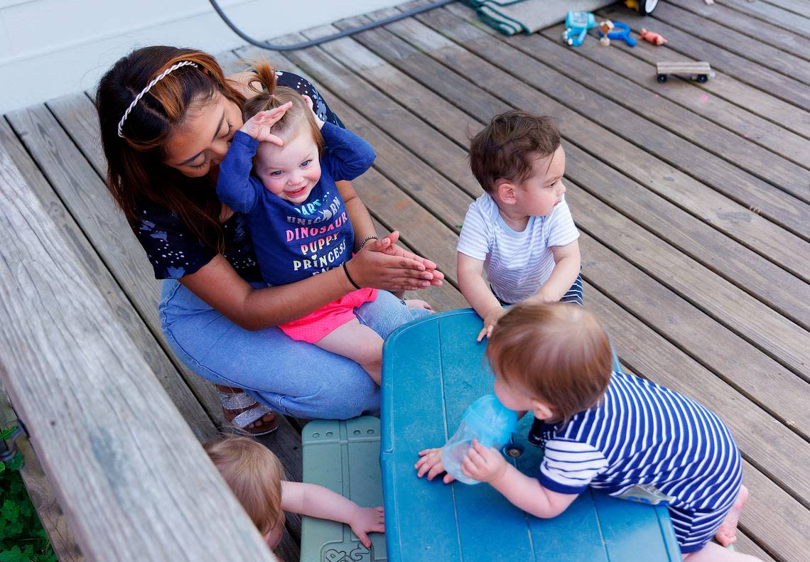
<svg viewBox="0 0 810 562"><path fill-rule="evenodd" d="M470 449L473 438L484 447L500 449L512 438L518 424L518 413L501 404L495 394L482 396L472 402L464 412L461 424L441 451L441 464L447 474L465 484L477 484L461 471L461 463Z"/></svg>

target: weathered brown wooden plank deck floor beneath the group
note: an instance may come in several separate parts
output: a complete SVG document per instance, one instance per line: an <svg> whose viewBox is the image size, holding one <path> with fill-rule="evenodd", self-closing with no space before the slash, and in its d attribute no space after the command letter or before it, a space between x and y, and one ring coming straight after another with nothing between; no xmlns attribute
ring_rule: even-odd
<svg viewBox="0 0 810 562"><path fill-rule="evenodd" d="M419 4L421 2L414 2ZM409 7L411 4L402 6ZM467 138L495 113L556 117L567 200L582 233L586 306L622 362L714 409L744 457L751 492L739 549L810 557L810 18L803 0L660 2L642 19L667 37L629 49L561 26L499 36L460 4L292 53L266 56L307 76L377 162L355 182L379 228L436 261L449 283L434 308L463 307L455 245L480 194ZM305 32L334 32L381 11ZM804 15L802 15L804 14ZM290 41L301 36L289 36ZM705 84L656 82L657 61L710 62ZM28 182L198 437L222 424L210 385L160 336L159 283L104 189L96 116L85 94L6 115L0 151ZM301 475L300 426L266 444ZM297 560L300 522L277 554Z"/></svg>

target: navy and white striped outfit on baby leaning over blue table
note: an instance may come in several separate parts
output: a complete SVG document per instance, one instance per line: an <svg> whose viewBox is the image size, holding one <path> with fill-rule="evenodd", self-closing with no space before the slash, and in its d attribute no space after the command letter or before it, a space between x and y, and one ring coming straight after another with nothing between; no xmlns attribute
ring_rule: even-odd
<svg viewBox="0 0 810 562"><path fill-rule="evenodd" d="M618 371L599 405L565 426L535 420L529 441L545 448L538 479L553 492L620 496L651 484L674 496L667 507L684 554L714 537L742 483L740 452L714 412Z"/></svg>

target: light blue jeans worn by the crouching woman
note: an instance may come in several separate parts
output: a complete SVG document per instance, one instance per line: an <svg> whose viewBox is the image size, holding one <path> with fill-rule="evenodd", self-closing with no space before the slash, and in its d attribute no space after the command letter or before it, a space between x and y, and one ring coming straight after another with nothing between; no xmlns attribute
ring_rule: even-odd
<svg viewBox="0 0 810 562"><path fill-rule="evenodd" d="M408 308L380 291L377 300L361 305L355 314L385 339L428 311ZM245 330L173 279L163 283L160 324L169 346L194 373L215 384L243 388L274 411L348 419L379 410L380 387L359 364L296 342L275 326Z"/></svg>

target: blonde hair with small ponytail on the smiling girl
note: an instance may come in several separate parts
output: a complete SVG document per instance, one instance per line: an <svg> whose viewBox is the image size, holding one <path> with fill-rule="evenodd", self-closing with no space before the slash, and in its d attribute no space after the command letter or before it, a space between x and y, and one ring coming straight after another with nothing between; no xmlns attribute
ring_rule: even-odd
<svg viewBox="0 0 810 562"><path fill-rule="evenodd" d="M288 101L292 101L292 107L272 127L273 134L286 141L303 127L304 130L309 130L309 133L312 134L313 141L318 146L318 155L322 155L323 135L321 130L318 129L318 123L315 121L309 105L301 97L301 94L291 87L276 86L275 70L273 70L269 62L254 61L250 66L250 70L255 73L255 76L249 80L248 86L256 92L256 95L247 100L242 106L242 118L247 121L250 117L254 117L256 113L277 108Z"/></svg>

